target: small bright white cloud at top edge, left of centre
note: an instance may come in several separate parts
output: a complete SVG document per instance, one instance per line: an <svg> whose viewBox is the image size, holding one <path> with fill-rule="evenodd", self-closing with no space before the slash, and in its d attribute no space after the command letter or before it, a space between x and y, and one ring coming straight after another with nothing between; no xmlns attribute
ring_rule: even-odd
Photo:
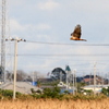
<svg viewBox="0 0 109 109"><path fill-rule="evenodd" d="M39 2L38 3L38 8L40 10L53 10L56 8L58 8L60 4L58 2L48 0L47 2Z"/></svg>

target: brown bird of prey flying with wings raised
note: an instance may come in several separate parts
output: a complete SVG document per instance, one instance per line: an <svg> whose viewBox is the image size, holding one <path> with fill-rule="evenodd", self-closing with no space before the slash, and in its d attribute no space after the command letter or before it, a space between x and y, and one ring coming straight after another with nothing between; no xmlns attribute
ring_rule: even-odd
<svg viewBox="0 0 109 109"><path fill-rule="evenodd" d="M86 39L81 38L82 31L81 31L81 25L76 25L74 28L74 32L71 34L71 40L83 40L86 41Z"/></svg>

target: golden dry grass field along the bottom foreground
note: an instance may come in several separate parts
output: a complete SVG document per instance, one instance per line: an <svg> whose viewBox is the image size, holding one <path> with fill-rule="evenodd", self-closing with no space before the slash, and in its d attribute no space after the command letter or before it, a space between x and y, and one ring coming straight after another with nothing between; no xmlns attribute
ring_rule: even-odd
<svg viewBox="0 0 109 109"><path fill-rule="evenodd" d="M5 100L0 101L0 109L109 109L109 99L104 100Z"/></svg>

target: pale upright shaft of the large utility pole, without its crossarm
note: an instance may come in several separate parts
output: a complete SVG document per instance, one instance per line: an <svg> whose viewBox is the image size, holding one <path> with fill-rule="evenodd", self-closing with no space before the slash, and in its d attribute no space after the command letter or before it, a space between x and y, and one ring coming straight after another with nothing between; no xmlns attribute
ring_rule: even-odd
<svg viewBox="0 0 109 109"><path fill-rule="evenodd" d="M15 93L16 93L16 66L17 66L17 40L15 39L14 45L14 83L13 83L13 99L15 99Z"/></svg>

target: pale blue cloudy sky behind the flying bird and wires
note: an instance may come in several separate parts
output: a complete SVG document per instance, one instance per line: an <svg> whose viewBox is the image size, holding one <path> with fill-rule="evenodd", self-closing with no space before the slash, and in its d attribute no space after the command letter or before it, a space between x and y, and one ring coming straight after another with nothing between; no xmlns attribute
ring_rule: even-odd
<svg viewBox="0 0 109 109"><path fill-rule="evenodd" d="M10 36L27 40L19 43L19 55L24 55L19 56L19 70L47 74L69 64L82 75L94 72L97 62L97 72L108 73L109 46L86 45L109 44L109 0L8 0L7 4ZM82 25L82 38L87 41L70 40L76 24Z"/></svg>

